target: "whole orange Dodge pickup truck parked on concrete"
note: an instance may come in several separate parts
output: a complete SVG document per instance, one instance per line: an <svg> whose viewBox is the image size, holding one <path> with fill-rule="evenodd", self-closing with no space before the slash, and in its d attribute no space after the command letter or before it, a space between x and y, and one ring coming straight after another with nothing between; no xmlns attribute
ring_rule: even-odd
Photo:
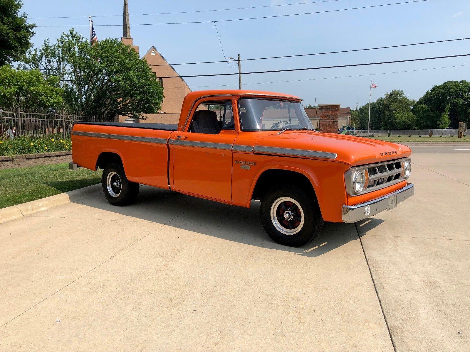
<svg viewBox="0 0 470 352"><path fill-rule="evenodd" d="M302 99L281 93L189 93L178 124L78 122L71 169L102 168L116 206L139 184L249 208L277 243L298 247L324 221L356 222L414 194L405 145L320 133Z"/></svg>

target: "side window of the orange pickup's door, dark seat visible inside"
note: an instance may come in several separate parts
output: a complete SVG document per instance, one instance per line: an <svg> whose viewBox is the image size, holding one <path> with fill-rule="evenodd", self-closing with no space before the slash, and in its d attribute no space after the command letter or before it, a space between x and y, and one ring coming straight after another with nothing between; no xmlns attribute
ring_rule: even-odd
<svg viewBox="0 0 470 352"><path fill-rule="evenodd" d="M189 132L219 134L221 130L235 130L231 100L204 101L194 112Z"/></svg>

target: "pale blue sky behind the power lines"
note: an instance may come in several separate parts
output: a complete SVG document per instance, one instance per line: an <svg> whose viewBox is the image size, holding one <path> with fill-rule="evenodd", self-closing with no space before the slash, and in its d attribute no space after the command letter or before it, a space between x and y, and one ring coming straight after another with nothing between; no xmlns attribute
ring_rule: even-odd
<svg viewBox="0 0 470 352"><path fill-rule="evenodd" d="M308 3L314 0L128 0L134 45L144 54L155 46L170 63L224 60L216 29L211 23L132 26L137 23L217 21L222 19L295 14L401 2L404 0L339 0ZM135 15L202 9L240 8L305 2L292 6L213 11L171 15ZM37 25L85 25L77 30L88 37L88 18L94 16L98 39L122 36L122 0L24 0L29 17L84 16L68 19L30 19ZM118 15L97 17L97 15ZM290 54L310 54L376 46L417 43L470 37L469 0L431 0L382 8L339 11L270 19L217 23L225 55L242 59ZM102 24L119 24L100 27ZM53 40L67 28L36 28L33 46L44 39ZM305 68L351 63L393 61L431 56L470 54L470 40L366 52L306 56L242 62L243 71ZM433 85L448 80L469 80L470 66L432 69L395 74L378 74L445 66L470 65L470 57L387 65L280 72L243 76L243 88L285 92L304 99L306 104L340 103L355 107L368 102L369 80L378 87L372 99L392 89L403 89L411 99L420 98ZM175 66L180 75L237 72L235 63L226 62ZM361 77L344 77L365 75ZM329 77L343 77L319 79ZM237 88L238 77L186 78L193 90ZM294 82L279 82L294 81ZM268 82L268 83L266 83ZM279 82L279 83L273 83ZM227 85L221 87L204 87Z"/></svg>

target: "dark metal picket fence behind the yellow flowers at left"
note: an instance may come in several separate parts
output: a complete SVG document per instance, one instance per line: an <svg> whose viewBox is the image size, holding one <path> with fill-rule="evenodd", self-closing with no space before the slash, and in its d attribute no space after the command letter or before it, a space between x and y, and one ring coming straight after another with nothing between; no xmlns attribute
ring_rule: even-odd
<svg viewBox="0 0 470 352"><path fill-rule="evenodd" d="M57 136L67 138L71 136L75 122L96 121L92 116L69 114L61 111L25 110L20 107L0 111L0 138L45 138Z"/></svg>

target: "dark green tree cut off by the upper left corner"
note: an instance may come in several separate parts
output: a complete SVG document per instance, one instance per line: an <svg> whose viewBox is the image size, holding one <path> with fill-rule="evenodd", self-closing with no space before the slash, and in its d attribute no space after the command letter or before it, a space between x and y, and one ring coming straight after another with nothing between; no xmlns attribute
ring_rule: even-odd
<svg viewBox="0 0 470 352"><path fill-rule="evenodd" d="M18 0L0 0L0 66L19 61L31 47L36 25L19 14L22 6Z"/></svg>

